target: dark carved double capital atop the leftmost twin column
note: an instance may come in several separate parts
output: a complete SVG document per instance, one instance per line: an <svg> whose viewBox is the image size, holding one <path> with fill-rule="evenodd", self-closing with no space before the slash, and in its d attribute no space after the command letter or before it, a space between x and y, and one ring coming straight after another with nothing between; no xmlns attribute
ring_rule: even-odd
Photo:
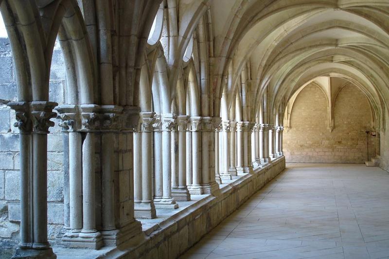
<svg viewBox="0 0 389 259"><path fill-rule="evenodd" d="M16 122L21 134L48 134L49 128L54 126L50 121L55 118L53 108L58 105L48 101L10 102L7 104L15 110Z"/></svg>

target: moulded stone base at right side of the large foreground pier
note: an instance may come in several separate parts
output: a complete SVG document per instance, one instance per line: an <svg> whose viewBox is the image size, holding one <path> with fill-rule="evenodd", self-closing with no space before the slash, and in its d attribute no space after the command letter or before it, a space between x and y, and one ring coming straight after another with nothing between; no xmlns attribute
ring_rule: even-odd
<svg viewBox="0 0 389 259"><path fill-rule="evenodd" d="M118 246L141 233L142 225L137 220L132 221L130 224L127 224L120 229L101 231L104 245L106 246Z"/></svg>

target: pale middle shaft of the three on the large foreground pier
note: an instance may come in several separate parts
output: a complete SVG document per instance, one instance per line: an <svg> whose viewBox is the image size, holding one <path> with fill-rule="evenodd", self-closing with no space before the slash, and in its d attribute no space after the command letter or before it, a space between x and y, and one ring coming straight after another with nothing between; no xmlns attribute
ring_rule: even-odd
<svg viewBox="0 0 389 259"><path fill-rule="evenodd" d="M82 146L82 189L83 189L83 229L84 233L96 232L95 212L95 172L94 134L86 133Z"/></svg>

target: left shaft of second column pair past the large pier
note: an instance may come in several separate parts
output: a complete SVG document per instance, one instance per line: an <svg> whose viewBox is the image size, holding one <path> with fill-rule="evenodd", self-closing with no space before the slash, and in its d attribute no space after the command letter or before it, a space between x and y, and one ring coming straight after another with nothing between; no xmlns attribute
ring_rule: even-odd
<svg viewBox="0 0 389 259"><path fill-rule="evenodd" d="M162 198L162 132L154 132L154 200Z"/></svg>

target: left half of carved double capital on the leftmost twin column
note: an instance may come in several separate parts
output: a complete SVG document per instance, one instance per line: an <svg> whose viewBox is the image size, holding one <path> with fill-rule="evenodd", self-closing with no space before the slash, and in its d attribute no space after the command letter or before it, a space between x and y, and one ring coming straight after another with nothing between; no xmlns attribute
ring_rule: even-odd
<svg viewBox="0 0 389 259"><path fill-rule="evenodd" d="M31 133L33 123L30 116L30 105L27 102L9 102L7 105L15 110L16 122L14 127L19 128L21 134Z"/></svg>

